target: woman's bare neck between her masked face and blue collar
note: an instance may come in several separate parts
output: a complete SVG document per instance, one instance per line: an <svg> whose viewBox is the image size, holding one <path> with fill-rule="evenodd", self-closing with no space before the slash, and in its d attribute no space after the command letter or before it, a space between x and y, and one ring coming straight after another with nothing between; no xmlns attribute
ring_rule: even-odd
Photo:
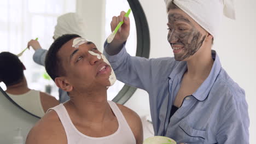
<svg viewBox="0 0 256 144"><path fill-rule="evenodd" d="M187 61L188 71L187 76L193 80L204 81L211 73L213 59L211 50L206 52L195 53L189 61Z"/></svg>

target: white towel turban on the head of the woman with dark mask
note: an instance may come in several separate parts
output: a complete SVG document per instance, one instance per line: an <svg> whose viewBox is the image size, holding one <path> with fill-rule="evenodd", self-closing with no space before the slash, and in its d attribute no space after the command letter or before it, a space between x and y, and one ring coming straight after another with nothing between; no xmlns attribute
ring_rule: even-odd
<svg viewBox="0 0 256 144"><path fill-rule="evenodd" d="M223 14L235 20L234 0L164 0L173 2L214 38L218 35Z"/></svg>

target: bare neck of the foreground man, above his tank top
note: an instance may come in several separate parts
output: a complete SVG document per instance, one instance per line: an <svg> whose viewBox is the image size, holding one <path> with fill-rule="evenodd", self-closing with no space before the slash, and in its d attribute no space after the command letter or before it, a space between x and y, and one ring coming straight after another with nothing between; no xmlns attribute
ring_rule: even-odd
<svg viewBox="0 0 256 144"><path fill-rule="evenodd" d="M107 102L107 90L71 93L71 99L65 104L74 118L84 123L102 123L112 111Z"/></svg>

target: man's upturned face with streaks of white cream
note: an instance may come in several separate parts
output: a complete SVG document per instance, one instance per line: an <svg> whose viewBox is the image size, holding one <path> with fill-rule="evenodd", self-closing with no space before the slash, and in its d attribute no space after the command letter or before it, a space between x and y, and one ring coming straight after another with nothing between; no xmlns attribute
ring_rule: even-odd
<svg viewBox="0 0 256 144"><path fill-rule="evenodd" d="M61 59L62 67L66 72L65 78L73 86L73 89L97 91L98 88L110 85L109 75L111 67L91 53L101 55L94 43L87 41L72 47L73 39L63 45L57 56ZM90 52L89 52L90 51Z"/></svg>

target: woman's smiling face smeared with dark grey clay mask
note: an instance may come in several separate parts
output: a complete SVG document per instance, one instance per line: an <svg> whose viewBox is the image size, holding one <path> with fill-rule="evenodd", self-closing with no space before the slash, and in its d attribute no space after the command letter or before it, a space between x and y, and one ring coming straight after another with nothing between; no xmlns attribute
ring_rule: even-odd
<svg viewBox="0 0 256 144"><path fill-rule="evenodd" d="M172 5L168 11L168 42L173 49L176 61L187 61L203 44L207 32L190 16Z"/></svg>

